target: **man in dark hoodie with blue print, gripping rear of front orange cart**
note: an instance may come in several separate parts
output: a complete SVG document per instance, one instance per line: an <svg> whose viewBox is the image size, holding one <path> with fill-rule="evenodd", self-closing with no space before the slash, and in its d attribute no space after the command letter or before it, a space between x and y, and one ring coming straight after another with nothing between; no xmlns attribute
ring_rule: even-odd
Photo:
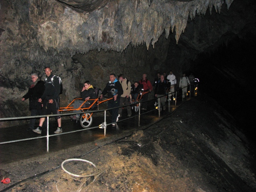
<svg viewBox="0 0 256 192"><path fill-rule="evenodd" d="M108 101L108 108L118 107L120 105L120 96L123 94L123 88L121 83L116 79L116 75L114 73L109 75L110 82L106 84L106 87L102 91L100 98L102 98L105 94L108 94L108 98L113 98ZM116 126L114 122L118 121L118 108L112 109L109 111L112 115L112 126Z"/></svg>

